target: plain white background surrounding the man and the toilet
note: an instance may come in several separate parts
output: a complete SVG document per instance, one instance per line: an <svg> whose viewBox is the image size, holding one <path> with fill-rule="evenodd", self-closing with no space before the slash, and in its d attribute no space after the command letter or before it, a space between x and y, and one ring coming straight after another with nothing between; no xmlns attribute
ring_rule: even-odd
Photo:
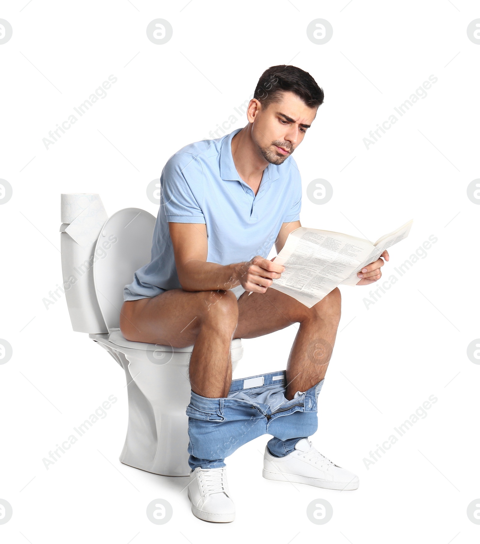
<svg viewBox="0 0 480 544"><path fill-rule="evenodd" d="M480 366L466 355L480 337L480 206L466 193L480 177L480 46L466 34L480 17L478 2L25 4L4 0L0 11L13 27L0 46L0 177L13 187L0 206L0 338L13 347L0 366L0 498L13 506L0 539L478 542L480 526L466 515L480 497ZM155 18L173 26L167 44L147 39ZM307 38L316 18L333 26L327 44ZM342 319L312 440L359 475L359 489L264 480L269 437L262 436L227 459L237 517L212 524L190 512L180 492L186 478L119 462L124 373L88 335L72 332L64 298L48 310L43 299L61 285L60 193L100 193L109 215L130 206L156 215L145 189L166 160L211 138L277 64L306 70L325 93L294 156L304 186L302 224L374 241L413 218L380 281L430 235L438 242L368 309L363 299L376 284L341 289ZM106 98L46 150L42 138L110 74L118 81ZM427 96L367 150L362 140L432 74L438 81ZM247 123L236 116L227 132ZM305 195L315 178L334 188L324 205ZM243 341L235 377L285 368L296 330ZM111 394L118 401L108 417L47 471L42 458ZM364 458L430 395L438 401L427 417L367 469ZM145 515L156 498L173 506L163 526ZM316 498L333 506L325 525L306 516Z"/></svg>

